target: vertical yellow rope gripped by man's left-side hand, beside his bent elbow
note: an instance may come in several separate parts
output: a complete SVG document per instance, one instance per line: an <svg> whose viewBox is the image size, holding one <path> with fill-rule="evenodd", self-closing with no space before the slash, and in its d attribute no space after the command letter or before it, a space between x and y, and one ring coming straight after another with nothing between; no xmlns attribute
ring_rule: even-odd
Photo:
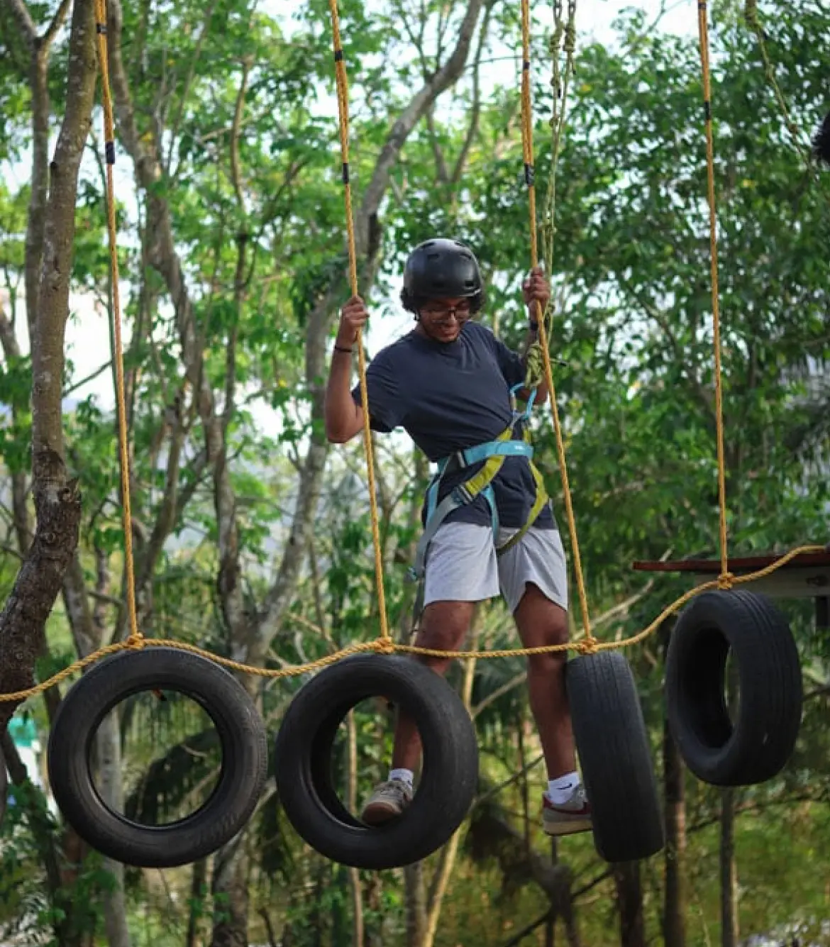
<svg viewBox="0 0 830 947"><path fill-rule="evenodd" d="M346 63L343 60L343 46L340 39L340 16L337 0L329 0L332 12L332 34L334 40L334 75L337 81L337 111L340 119L340 152L343 164L343 193L346 202L346 233L349 242L349 282L352 295L357 295L357 254L354 249L354 220L352 212L352 185L349 174L349 80L346 75ZM374 476L374 455L371 448L371 427L369 416L369 393L366 384L366 354L363 350L363 332L357 333L357 362L360 373L360 398L363 407L363 447L366 454L367 478L369 481L369 506L371 518L371 541L374 547L374 573L377 588L378 614L380 616L380 637L391 647L387 620L387 604L384 591L383 550L380 541L378 523L377 490Z"/></svg>

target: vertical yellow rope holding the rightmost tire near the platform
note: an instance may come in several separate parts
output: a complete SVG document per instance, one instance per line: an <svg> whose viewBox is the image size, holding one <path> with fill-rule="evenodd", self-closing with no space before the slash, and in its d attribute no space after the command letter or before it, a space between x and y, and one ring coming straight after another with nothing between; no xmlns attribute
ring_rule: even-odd
<svg viewBox="0 0 830 947"><path fill-rule="evenodd" d="M712 132L712 79L709 65L709 22L706 0L697 3L700 65L703 73L703 108L706 125L706 177L709 198L709 242L712 268L712 321L714 336L714 415L717 438L717 502L720 518L720 576L718 586L731 588L726 506L726 461L723 444L723 381L720 354L720 304L717 287L717 215L714 203L714 144Z"/></svg>

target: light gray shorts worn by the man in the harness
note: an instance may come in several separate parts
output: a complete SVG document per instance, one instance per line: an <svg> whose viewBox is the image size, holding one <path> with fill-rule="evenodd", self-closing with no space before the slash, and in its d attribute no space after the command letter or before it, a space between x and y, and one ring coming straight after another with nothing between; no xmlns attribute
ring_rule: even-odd
<svg viewBox="0 0 830 947"><path fill-rule="evenodd" d="M499 529L498 545L515 529ZM445 523L426 552L424 606L431 601L481 601L499 592L513 614L528 582L568 609L568 565L558 529L531 527L501 556L493 529L474 523Z"/></svg>

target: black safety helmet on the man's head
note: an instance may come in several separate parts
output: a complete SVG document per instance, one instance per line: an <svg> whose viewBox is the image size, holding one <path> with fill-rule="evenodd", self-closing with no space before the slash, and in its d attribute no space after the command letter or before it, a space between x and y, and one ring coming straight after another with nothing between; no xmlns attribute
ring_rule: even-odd
<svg viewBox="0 0 830 947"><path fill-rule="evenodd" d="M409 254L404 269L401 303L417 313L427 299L465 298L478 313L484 301L478 259L457 240L439 237L424 241Z"/></svg>

